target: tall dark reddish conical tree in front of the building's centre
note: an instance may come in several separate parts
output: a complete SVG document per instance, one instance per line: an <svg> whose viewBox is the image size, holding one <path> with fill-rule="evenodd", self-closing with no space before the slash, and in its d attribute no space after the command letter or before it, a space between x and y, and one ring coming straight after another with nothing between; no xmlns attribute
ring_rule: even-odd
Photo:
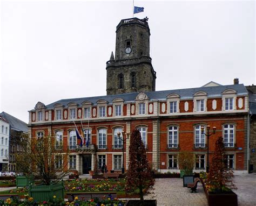
<svg viewBox="0 0 256 206"><path fill-rule="evenodd" d="M140 201L142 201L141 205L143 205L143 190L152 189L154 179L139 130L135 129L132 131L129 155L126 191L134 192L136 189L139 189Z"/></svg>

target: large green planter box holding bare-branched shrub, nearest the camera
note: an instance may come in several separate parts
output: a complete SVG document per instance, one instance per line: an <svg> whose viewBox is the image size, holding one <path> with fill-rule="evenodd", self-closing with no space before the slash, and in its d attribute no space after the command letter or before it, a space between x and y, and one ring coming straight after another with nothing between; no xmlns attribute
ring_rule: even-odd
<svg viewBox="0 0 256 206"><path fill-rule="evenodd" d="M64 183L62 181L51 185L30 185L29 196L39 202L52 200L53 196L64 199Z"/></svg>

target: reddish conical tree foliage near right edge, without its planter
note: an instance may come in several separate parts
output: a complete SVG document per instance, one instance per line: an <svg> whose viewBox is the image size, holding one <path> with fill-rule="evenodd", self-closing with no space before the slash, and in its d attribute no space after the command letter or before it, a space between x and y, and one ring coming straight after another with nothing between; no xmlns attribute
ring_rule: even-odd
<svg viewBox="0 0 256 206"><path fill-rule="evenodd" d="M207 177L207 183L211 190L222 192L226 188L236 189L233 182L233 171L227 169L224 164L225 153L223 138L219 137L215 143L215 151L210 165L210 171Z"/></svg>

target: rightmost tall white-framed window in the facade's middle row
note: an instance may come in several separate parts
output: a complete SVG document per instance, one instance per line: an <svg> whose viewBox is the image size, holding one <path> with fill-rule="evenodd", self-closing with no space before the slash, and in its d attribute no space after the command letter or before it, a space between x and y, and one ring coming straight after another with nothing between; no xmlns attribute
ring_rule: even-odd
<svg viewBox="0 0 256 206"><path fill-rule="evenodd" d="M231 132L233 131L233 133ZM232 137L233 134L233 137ZM233 142L231 141L233 139ZM225 147L234 147L235 145L235 125L224 124L223 125L223 143Z"/></svg>

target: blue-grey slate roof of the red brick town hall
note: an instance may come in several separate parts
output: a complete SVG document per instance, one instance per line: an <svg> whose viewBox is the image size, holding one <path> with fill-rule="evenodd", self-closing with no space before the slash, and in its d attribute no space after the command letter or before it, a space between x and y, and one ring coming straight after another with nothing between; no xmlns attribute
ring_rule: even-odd
<svg viewBox="0 0 256 206"><path fill-rule="evenodd" d="M237 91L237 95L248 95L244 84L231 84L227 86L217 86L217 87L198 87L198 88L188 88L188 89L175 89L175 90L164 90L164 91L150 91L145 92L150 100L166 100L166 97L172 93L178 94L181 100L192 99L193 95L198 91L204 91L207 93L207 97L221 97L221 93L226 89L233 89ZM64 100L59 100L51 104L46 105L46 108L52 109L57 103L63 106L68 106L69 103L74 102L78 105L82 105L84 101L89 101L92 104L96 104L98 100L105 100L107 102L112 102L115 98L122 98L125 102L134 101L139 93L125 93L118 95L107 95L107 96L96 96L96 97L84 97L84 98L69 98Z"/></svg>

